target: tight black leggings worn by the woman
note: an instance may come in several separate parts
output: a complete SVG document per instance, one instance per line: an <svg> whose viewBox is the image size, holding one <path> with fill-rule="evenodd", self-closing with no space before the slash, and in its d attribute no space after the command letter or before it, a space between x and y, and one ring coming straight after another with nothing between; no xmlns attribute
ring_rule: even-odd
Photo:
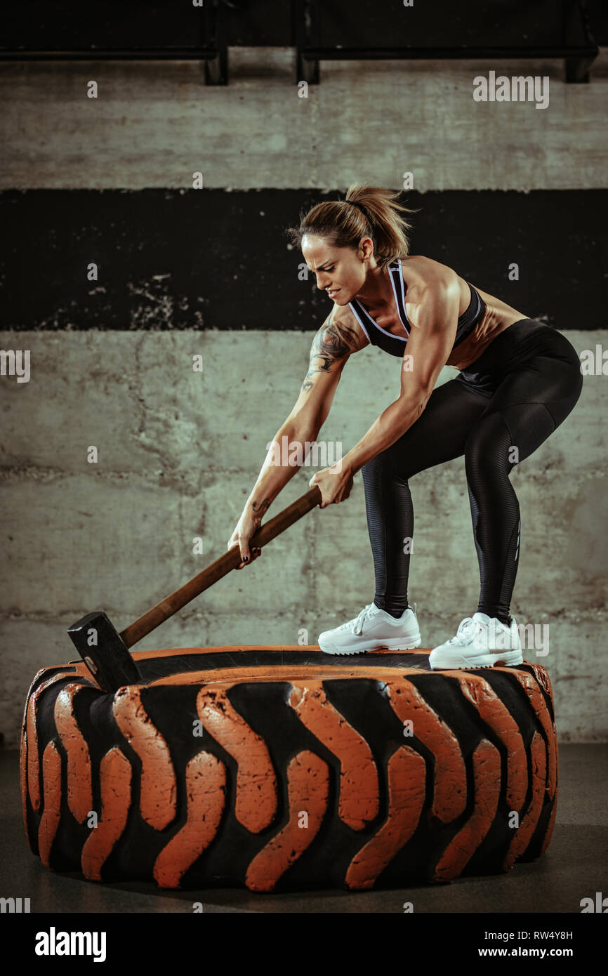
<svg viewBox="0 0 608 976"><path fill-rule="evenodd" d="M574 346L556 329L523 318L432 391L416 423L361 468L376 606L393 617L408 606L407 540L414 536L408 478L464 454L481 578L477 610L509 623L520 539L509 474L565 420L582 387Z"/></svg>

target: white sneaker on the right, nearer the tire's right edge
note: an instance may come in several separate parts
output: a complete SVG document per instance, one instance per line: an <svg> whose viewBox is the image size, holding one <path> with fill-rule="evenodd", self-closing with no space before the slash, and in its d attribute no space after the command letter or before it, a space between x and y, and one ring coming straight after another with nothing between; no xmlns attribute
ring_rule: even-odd
<svg viewBox="0 0 608 976"><path fill-rule="evenodd" d="M521 644L515 618L510 627L496 617L474 613L461 621L458 633L445 644L433 647L428 664L438 668L493 668L495 665L520 665Z"/></svg>

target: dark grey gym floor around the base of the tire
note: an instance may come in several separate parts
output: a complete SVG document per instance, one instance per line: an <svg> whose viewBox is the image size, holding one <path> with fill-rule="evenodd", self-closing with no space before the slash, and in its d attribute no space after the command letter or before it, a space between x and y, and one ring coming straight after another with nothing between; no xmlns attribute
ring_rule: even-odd
<svg viewBox="0 0 608 976"><path fill-rule="evenodd" d="M242 889L161 891L153 884L98 884L42 867L21 820L19 753L0 753L0 896L30 899L32 913L176 912L561 912L580 914L582 898L608 892L608 746L559 749L557 820L547 853L509 874L392 891L256 895Z"/></svg>

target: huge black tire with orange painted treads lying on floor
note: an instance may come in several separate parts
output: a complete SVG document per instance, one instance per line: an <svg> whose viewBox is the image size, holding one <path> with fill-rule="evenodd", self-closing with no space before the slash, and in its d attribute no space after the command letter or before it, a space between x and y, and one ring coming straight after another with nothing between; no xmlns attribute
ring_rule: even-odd
<svg viewBox="0 0 608 976"><path fill-rule="evenodd" d="M43 669L20 787L47 868L161 887L369 890L511 870L557 801L541 666L430 671L428 651L136 651L110 695Z"/></svg>

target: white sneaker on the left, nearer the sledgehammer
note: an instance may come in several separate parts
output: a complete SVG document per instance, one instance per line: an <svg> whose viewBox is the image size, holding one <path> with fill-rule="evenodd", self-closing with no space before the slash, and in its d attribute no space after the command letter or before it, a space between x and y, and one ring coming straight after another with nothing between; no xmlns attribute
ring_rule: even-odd
<svg viewBox="0 0 608 976"><path fill-rule="evenodd" d="M352 620L334 630L323 630L318 643L325 654L361 654L381 647L389 651L409 651L420 647L416 603L398 618L391 617L375 603L368 603Z"/></svg>

